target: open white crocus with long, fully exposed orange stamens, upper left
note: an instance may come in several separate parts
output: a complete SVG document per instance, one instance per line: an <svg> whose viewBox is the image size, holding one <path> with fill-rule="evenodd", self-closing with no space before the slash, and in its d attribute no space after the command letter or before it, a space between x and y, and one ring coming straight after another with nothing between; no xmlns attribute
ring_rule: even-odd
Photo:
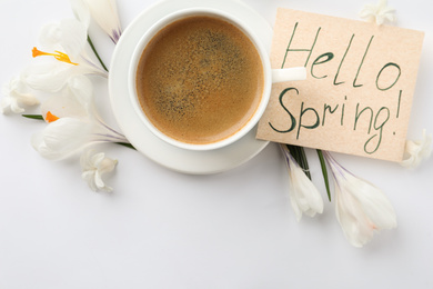
<svg viewBox="0 0 433 289"><path fill-rule="evenodd" d="M89 57L87 39L87 27L77 19L47 24L39 39L46 51L34 47L32 56L53 59L30 66L23 71L23 80L33 89L57 92L74 76L107 77L107 71Z"/></svg>

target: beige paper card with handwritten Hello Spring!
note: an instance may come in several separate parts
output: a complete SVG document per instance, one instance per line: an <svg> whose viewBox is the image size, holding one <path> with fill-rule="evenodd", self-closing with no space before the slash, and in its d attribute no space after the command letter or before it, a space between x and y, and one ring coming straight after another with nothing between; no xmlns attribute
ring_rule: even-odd
<svg viewBox="0 0 433 289"><path fill-rule="evenodd" d="M401 161L424 33L279 9L272 68L305 67L275 83L258 139Z"/></svg>

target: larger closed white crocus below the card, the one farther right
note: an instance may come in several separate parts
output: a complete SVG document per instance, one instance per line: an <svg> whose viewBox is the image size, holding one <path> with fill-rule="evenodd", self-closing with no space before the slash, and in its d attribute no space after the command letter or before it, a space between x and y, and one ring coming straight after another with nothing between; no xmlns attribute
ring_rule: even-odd
<svg viewBox="0 0 433 289"><path fill-rule="evenodd" d="M329 152L323 153L335 183L336 219L349 242L363 247L375 231L395 228L395 211L386 196L344 169Z"/></svg>

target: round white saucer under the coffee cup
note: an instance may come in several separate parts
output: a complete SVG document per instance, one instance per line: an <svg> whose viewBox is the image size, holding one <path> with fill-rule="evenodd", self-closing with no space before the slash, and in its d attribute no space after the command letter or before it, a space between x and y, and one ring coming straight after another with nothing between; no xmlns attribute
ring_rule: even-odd
<svg viewBox="0 0 433 289"><path fill-rule="evenodd" d="M169 169L207 175L235 168L262 151L269 141L255 139L256 127L239 141L216 150L190 151L173 147L155 137L135 114L128 97L129 63L143 33L158 20L174 11L205 7L224 10L249 24L270 52L272 28L252 8L239 0L163 0L137 17L124 30L112 56L109 76L111 107L128 140L144 156Z"/></svg>

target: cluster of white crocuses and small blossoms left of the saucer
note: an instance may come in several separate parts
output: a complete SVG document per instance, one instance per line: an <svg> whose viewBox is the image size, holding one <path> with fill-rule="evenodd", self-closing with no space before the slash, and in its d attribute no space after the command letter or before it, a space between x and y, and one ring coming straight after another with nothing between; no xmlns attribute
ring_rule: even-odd
<svg viewBox="0 0 433 289"><path fill-rule="evenodd" d="M90 57L88 29L93 17L117 42L121 29L115 1L71 0L71 3L77 19L64 19L41 29L39 46L32 49L36 59L3 86L0 100L1 112L22 113L24 107L40 103L33 92L51 94L41 104L48 126L31 138L33 148L50 160L74 156L95 142L128 143L123 134L100 118L93 104L92 83L87 78L108 77L107 69ZM102 175L112 171L115 165L117 160L105 158L103 152L84 152L82 178L94 191L111 191Z"/></svg>

